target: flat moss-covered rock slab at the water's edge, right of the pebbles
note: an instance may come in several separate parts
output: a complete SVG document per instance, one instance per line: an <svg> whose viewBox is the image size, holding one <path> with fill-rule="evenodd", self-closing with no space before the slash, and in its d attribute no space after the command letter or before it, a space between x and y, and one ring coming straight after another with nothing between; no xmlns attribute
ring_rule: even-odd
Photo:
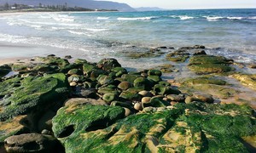
<svg viewBox="0 0 256 153"><path fill-rule="evenodd" d="M196 55L189 59L189 69L197 74L223 73L234 71L232 59L226 59L222 56Z"/></svg>

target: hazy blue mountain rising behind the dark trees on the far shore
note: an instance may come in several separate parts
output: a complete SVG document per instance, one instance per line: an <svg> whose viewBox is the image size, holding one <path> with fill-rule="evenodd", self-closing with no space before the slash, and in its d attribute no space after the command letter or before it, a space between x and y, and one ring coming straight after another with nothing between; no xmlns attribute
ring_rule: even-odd
<svg viewBox="0 0 256 153"><path fill-rule="evenodd" d="M0 5L9 4L26 4L38 6L42 5L65 5L68 7L82 7L91 9L117 9L119 11L135 11L126 3L114 3L109 1L93 1L93 0L1 0Z"/></svg>

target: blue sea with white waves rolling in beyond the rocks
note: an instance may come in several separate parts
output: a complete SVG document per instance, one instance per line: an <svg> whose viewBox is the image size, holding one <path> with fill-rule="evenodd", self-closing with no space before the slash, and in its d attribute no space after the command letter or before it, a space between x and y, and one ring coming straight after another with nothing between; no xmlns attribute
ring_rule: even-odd
<svg viewBox="0 0 256 153"><path fill-rule="evenodd" d="M256 9L3 15L0 42L64 48L67 54L75 50L90 60L117 58L131 67L157 65L165 56L131 59L127 54L197 44L206 46L207 54L256 63Z"/></svg>

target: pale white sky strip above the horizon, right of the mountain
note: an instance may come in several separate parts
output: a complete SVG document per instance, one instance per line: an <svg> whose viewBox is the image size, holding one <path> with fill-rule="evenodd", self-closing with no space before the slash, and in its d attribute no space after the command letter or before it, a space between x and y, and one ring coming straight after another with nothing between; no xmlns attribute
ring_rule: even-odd
<svg viewBox="0 0 256 153"><path fill-rule="evenodd" d="M133 8L256 8L256 0L108 0Z"/></svg>

